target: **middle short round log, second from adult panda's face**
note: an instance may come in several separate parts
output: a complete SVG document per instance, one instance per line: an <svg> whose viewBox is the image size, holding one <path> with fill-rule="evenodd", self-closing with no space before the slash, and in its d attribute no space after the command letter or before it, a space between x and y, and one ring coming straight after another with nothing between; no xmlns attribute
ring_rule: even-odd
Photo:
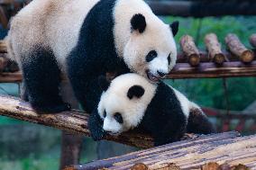
<svg viewBox="0 0 256 170"><path fill-rule="evenodd" d="M225 61L222 46L217 39L215 33L209 33L205 37L206 48L209 52L209 58L217 65L222 65Z"/></svg>

